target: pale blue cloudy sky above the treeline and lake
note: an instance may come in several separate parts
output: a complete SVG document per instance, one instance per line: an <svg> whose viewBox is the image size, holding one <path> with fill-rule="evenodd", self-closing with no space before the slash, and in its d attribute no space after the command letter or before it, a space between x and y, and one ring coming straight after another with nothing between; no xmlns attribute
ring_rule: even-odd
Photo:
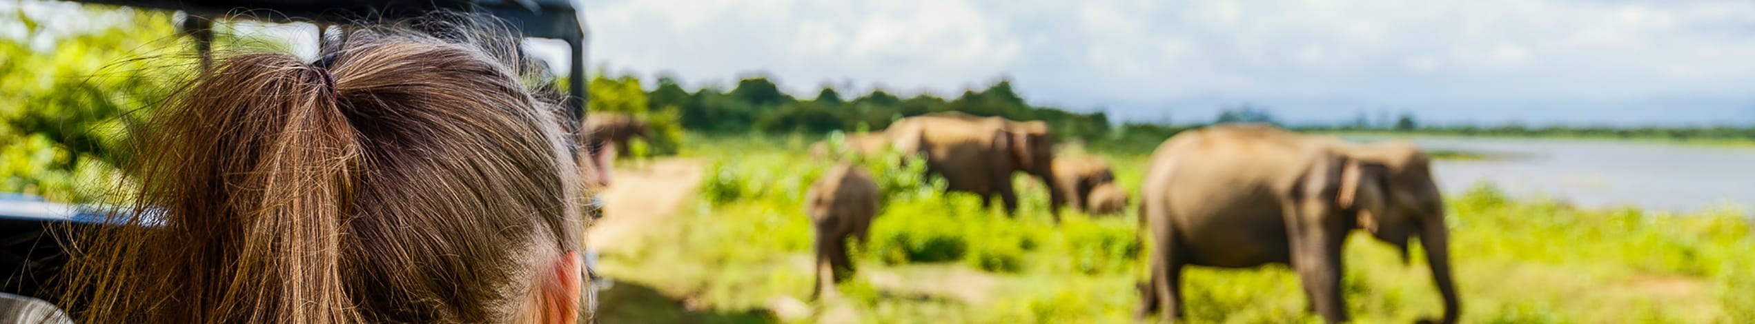
<svg viewBox="0 0 1755 324"><path fill-rule="evenodd" d="M593 67L1025 98L1127 119L1755 124L1755 2L584 0Z"/></svg>

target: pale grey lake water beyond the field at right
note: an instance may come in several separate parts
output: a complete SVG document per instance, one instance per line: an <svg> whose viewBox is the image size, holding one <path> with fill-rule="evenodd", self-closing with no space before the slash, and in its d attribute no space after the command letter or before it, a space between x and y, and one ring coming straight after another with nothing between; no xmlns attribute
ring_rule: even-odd
<svg viewBox="0 0 1755 324"><path fill-rule="evenodd" d="M1508 194L1550 196L1580 207L1634 205L1673 212L1755 207L1755 147L1572 138L1408 140L1429 151L1495 156L1434 161L1432 172L1444 193L1464 193L1485 180Z"/></svg>

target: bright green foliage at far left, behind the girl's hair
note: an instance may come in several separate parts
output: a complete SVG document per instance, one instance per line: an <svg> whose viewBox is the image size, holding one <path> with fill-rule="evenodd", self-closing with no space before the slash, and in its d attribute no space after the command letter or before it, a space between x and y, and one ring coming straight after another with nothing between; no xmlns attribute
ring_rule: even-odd
<svg viewBox="0 0 1755 324"><path fill-rule="evenodd" d="M170 12L30 5L54 9L0 12L0 30L25 32L0 37L0 191L104 200L130 156L128 130L193 60L153 53L186 46L174 39ZM97 23L39 23L68 18Z"/></svg>

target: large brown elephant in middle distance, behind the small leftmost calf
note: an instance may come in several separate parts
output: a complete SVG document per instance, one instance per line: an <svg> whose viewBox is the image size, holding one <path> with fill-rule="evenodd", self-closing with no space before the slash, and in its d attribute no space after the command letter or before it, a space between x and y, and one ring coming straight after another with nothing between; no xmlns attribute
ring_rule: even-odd
<svg viewBox="0 0 1755 324"><path fill-rule="evenodd" d="M1009 121L941 112L906 117L885 130L902 152L923 152L928 177L944 177L948 191L981 196L983 207L1000 198L1007 214L1018 210L1011 175L1025 172L1053 187L1053 138L1048 123ZM1049 210L1060 221L1060 193L1049 189Z"/></svg>

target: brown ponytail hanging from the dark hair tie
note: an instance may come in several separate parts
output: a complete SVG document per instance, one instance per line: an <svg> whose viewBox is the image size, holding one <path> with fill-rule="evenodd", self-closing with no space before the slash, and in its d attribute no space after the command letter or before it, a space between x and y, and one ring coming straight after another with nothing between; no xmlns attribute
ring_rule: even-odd
<svg viewBox="0 0 1755 324"><path fill-rule="evenodd" d="M126 247L142 277L88 278L98 289L90 322L179 319L270 322L274 317L351 322L339 277L342 222L360 179L360 145L335 102L333 77L284 54L225 60L156 116L140 163L142 215L118 235L158 240ZM153 273L176 280L147 278ZM91 275L75 271L75 275ZM86 280L77 280L86 282ZM144 285L135 289L104 289ZM105 296L137 291L179 296ZM161 303L130 303L161 298ZM84 299L84 298L79 298ZM328 319L314 319L332 313ZM114 315L114 317L112 317ZM158 322L158 320L153 320Z"/></svg>

